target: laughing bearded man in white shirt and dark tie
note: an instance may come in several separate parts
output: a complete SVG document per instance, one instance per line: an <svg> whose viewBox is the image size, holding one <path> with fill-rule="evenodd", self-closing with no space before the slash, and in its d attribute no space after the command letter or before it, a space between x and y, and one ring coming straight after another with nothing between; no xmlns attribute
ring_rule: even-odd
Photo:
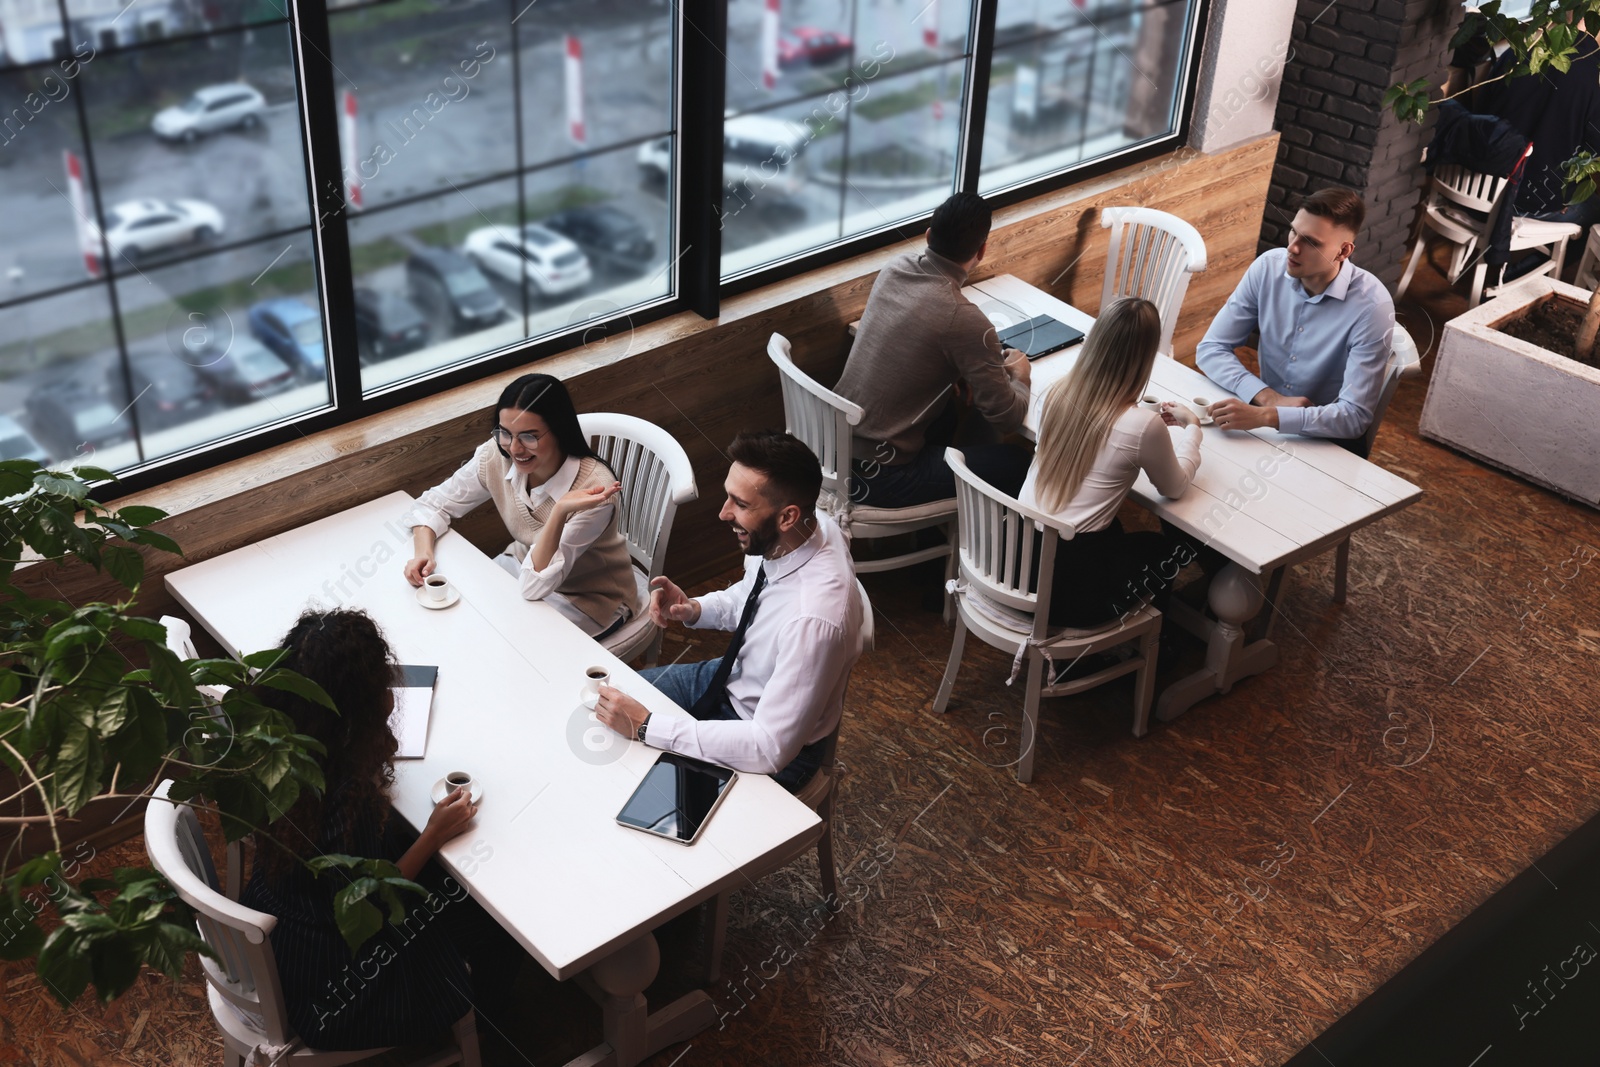
<svg viewBox="0 0 1600 1067"><path fill-rule="evenodd" d="M656 625L731 630L728 653L640 672L691 718L654 718L611 686L595 712L619 734L771 774L795 792L816 774L861 656L856 568L838 525L816 510L822 469L805 443L773 430L741 434L728 454L720 518L747 557L744 577L698 598L656 577L650 595Z"/></svg>

